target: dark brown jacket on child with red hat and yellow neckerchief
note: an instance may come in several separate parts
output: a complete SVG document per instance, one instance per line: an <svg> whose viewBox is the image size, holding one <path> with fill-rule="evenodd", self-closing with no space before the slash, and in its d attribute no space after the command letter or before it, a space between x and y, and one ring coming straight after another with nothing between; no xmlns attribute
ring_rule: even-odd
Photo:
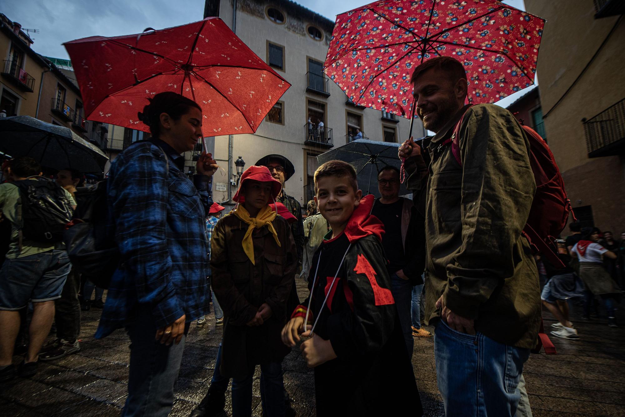
<svg viewBox="0 0 625 417"><path fill-rule="evenodd" d="M287 221L277 216L272 224L281 246L267 227L254 230L255 265L241 245L246 223L228 214L212 231L212 289L224 310L221 373L227 377L242 378L255 365L281 362L291 351L280 332L286 323L297 252ZM262 303L271 307L271 317L261 326L246 326Z"/></svg>

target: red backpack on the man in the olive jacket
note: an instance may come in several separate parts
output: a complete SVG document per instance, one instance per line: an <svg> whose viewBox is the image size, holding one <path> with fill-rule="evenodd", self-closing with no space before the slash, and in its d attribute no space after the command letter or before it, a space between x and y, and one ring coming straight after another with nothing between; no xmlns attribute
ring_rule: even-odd
<svg viewBox="0 0 625 417"><path fill-rule="evenodd" d="M451 138L442 143L442 145L446 145L451 142L451 152L460 166L462 166L462 160L460 159L458 135L462 119L464 116L457 122ZM573 215L573 220L577 221L577 219L572 212L571 200L566 197L564 180L562 180L562 175L547 142L531 127L522 123L521 127L529 139L529 164L536 181L536 194L534 194L532 207L529 209L529 217L527 217L527 223L522 233L534 252L544 255L555 267L564 268L564 263L551 247L554 245L556 237L564 230L569 219L569 212ZM557 245L555 247L557 248ZM542 320L538 336L539 345L532 353L538 353L541 346L545 348L547 354L556 353L555 346L544 333Z"/></svg>

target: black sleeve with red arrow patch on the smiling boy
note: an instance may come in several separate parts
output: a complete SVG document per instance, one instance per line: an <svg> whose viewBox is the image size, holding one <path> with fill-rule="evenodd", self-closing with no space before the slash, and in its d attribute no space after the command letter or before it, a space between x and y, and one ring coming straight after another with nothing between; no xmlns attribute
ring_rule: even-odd
<svg viewBox="0 0 625 417"><path fill-rule="evenodd" d="M329 316L329 340L339 358L371 355L386 344L395 318L391 278L386 271L382 245L363 240L354 242L344 268L353 311L344 309Z"/></svg>

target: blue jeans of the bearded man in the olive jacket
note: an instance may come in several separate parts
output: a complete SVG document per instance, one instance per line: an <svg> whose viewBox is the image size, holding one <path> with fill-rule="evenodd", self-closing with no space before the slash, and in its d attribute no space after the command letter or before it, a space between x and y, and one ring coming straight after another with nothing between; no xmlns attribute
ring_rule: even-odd
<svg viewBox="0 0 625 417"><path fill-rule="evenodd" d="M529 349L467 335L439 320L434 335L436 378L448 416L512 417Z"/></svg>

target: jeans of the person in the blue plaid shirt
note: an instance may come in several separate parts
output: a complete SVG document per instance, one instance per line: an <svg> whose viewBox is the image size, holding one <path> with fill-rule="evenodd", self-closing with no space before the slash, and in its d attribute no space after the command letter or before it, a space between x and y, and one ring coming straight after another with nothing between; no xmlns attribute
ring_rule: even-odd
<svg viewBox="0 0 625 417"><path fill-rule="evenodd" d="M137 308L136 320L126 326L130 336L128 397L123 416L166 417L174 404L174 383L183 359L184 340L161 345L154 340L156 323L149 307Z"/></svg>

